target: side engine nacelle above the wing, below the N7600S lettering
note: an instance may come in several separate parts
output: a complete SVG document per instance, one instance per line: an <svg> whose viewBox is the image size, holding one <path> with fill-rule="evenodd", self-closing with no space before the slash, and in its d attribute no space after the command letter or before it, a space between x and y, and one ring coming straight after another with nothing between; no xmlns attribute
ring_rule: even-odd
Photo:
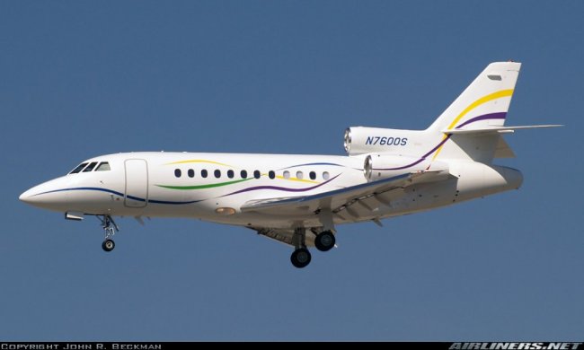
<svg viewBox="0 0 584 350"><path fill-rule="evenodd" d="M369 154L363 164L363 173L368 181L391 178L406 172L416 171L448 171L448 164L432 162L426 158L390 154Z"/></svg>

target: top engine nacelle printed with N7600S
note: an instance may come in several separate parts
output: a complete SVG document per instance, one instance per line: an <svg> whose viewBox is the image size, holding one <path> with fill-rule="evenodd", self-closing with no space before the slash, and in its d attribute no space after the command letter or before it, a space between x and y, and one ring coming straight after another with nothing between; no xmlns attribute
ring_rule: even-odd
<svg viewBox="0 0 584 350"><path fill-rule="evenodd" d="M363 153L400 153L411 144L416 131L380 127L350 127L345 130L344 146L349 155Z"/></svg>

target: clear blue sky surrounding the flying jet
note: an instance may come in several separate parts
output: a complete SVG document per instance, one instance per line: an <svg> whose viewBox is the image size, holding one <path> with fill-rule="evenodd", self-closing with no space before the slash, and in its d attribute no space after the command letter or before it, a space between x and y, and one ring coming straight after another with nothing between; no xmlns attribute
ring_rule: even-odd
<svg viewBox="0 0 584 350"><path fill-rule="evenodd" d="M0 339L581 340L584 3L0 2ZM342 154L424 128L492 61L523 63L500 163L519 191L339 227L310 267L252 232L18 201L128 151Z"/></svg>

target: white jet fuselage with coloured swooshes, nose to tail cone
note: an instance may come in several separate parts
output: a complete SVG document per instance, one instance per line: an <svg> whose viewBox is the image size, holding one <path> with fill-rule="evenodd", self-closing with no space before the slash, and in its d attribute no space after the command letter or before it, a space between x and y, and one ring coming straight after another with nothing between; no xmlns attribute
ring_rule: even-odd
<svg viewBox="0 0 584 350"><path fill-rule="evenodd" d="M254 200L310 196L367 183L358 156L117 153L84 163L108 162L108 171L81 171L53 179L22 194L34 206L81 214L192 217L248 227L318 225L314 215L243 213ZM349 208L334 223L353 223L408 214L518 188L520 172L478 162L450 162L450 181L422 184L388 194L385 205ZM407 171L390 171L385 176ZM405 192L405 193L404 193ZM397 200L392 199L395 197ZM364 210L367 209L367 210Z"/></svg>

